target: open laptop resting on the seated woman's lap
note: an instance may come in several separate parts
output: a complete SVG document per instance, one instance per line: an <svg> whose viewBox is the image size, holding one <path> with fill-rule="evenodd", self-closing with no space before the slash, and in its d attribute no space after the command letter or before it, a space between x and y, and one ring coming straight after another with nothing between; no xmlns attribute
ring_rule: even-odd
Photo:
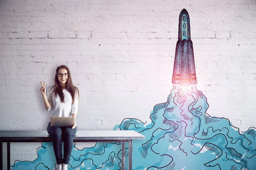
<svg viewBox="0 0 256 170"><path fill-rule="evenodd" d="M75 124L74 117L55 117L52 116L51 118L51 126L58 126L58 127L72 127Z"/></svg>

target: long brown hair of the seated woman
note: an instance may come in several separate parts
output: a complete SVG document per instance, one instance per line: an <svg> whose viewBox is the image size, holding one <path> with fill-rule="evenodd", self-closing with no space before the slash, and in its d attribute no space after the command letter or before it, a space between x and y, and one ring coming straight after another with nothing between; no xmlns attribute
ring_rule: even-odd
<svg viewBox="0 0 256 170"><path fill-rule="evenodd" d="M52 86L52 88L54 87L53 94L55 94L55 97L58 95L61 98L61 102L65 103L65 99L64 99L65 96L64 96L63 91L62 91L61 83L58 81L58 71L61 68L67 69L68 78L67 78L67 82L66 82L66 89L72 97L72 105L73 105L75 97L76 97L76 92L77 92L78 97L79 97L79 90L76 86L73 85L70 70L66 65L60 65L56 69L55 79L54 79L54 86Z"/></svg>

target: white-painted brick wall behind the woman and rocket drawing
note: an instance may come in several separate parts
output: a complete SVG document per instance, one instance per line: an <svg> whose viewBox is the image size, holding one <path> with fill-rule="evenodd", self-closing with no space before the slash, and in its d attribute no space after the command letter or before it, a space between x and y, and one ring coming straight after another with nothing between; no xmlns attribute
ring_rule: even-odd
<svg viewBox="0 0 256 170"><path fill-rule="evenodd" d="M183 8L207 113L241 130L256 127L255 0L5 0L0 130L46 129L40 81L52 85L61 64L80 90L79 129L112 129L131 117L148 121L172 89ZM12 163L36 157L38 144L24 146L12 144Z"/></svg>

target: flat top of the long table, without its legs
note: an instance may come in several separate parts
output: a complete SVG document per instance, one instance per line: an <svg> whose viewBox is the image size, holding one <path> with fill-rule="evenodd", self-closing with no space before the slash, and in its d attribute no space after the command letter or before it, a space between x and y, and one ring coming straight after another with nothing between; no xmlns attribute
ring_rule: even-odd
<svg viewBox="0 0 256 170"><path fill-rule="evenodd" d="M145 136L134 130L78 130L74 142L88 141L128 141L145 139ZM51 142L47 130L0 130L2 142Z"/></svg>

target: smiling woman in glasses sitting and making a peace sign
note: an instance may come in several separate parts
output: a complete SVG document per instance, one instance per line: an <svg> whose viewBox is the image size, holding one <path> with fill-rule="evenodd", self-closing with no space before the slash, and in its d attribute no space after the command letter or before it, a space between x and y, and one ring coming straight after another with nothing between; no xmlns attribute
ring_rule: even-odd
<svg viewBox="0 0 256 170"><path fill-rule="evenodd" d="M52 136L52 145L56 157L56 170L67 170L73 146L73 136L76 134L76 115L78 111L79 90L73 85L70 70L66 65L56 69L55 83L47 89L41 82L41 93L44 98L44 107L52 111L51 116L74 117L73 127L47 127L47 132ZM64 141L64 156L61 153L61 138Z"/></svg>

